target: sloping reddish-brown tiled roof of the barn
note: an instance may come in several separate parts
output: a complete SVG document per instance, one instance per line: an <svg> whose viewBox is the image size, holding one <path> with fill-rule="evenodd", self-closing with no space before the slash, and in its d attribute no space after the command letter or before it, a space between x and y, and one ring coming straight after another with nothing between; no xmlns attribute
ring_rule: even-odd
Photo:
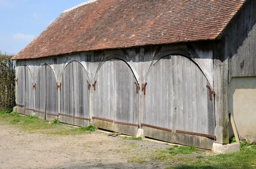
<svg viewBox="0 0 256 169"><path fill-rule="evenodd" d="M246 0L92 0L63 12L12 59L216 39Z"/></svg>

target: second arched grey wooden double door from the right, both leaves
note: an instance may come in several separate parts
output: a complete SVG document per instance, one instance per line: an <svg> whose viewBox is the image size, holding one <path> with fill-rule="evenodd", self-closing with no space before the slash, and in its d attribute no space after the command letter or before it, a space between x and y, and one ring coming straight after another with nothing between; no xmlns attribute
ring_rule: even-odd
<svg viewBox="0 0 256 169"><path fill-rule="evenodd" d="M139 91L131 68L120 59L110 59L99 69L95 80L93 121L96 127L136 135Z"/></svg>

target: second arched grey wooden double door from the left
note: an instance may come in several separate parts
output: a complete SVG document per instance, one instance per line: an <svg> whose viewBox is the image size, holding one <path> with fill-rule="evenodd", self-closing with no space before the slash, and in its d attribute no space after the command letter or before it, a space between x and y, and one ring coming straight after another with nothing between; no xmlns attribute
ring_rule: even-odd
<svg viewBox="0 0 256 169"><path fill-rule="evenodd" d="M48 65L38 70L35 86L35 115L41 119L58 118L58 91L55 75Z"/></svg>

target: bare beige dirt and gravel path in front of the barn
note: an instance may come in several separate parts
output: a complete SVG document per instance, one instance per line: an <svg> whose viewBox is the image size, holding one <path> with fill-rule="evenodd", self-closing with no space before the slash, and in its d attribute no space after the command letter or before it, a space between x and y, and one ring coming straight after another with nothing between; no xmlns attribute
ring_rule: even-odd
<svg viewBox="0 0 256 169"><path fill-rule="evenodd" d="M112 138L99 132L64 136L29 134L0 122L1 169L165 168L169 165L128 160L167 147L149 141Z"/></svg>

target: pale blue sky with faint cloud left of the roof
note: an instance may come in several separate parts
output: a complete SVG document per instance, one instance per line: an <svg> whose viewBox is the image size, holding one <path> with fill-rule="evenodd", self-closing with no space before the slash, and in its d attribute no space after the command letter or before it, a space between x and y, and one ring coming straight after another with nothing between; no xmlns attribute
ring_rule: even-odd
<svg viewBox="0 0 256 169"><path fill-rule="evenodd" d="M87 0L0 0L0 51L17 54L62 11Z"/></svg>

